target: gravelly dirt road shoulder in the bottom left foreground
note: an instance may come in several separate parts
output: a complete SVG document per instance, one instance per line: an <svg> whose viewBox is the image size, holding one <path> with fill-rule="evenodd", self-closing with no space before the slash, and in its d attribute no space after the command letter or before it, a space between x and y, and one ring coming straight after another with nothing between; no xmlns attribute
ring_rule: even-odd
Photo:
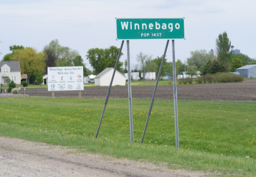
<svg viewBox="0 0 256 177"><path fill-rule="evenodd" d="M208 176L46 143L0 137L0 176Z"/></svg>

